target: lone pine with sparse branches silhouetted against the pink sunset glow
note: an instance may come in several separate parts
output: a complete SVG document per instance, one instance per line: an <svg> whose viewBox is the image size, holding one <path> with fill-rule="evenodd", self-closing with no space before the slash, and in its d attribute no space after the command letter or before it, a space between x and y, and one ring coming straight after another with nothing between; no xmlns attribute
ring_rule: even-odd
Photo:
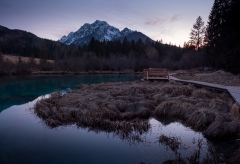
<svg viewBox="0 0 240 164"><path fill-rule="evenodd" d="M199 16L196 23L193 25L193 29L190 33L189 44L195 46L196 50L199 50L203 46L205 36L205 27L202 18Z"/></svg>

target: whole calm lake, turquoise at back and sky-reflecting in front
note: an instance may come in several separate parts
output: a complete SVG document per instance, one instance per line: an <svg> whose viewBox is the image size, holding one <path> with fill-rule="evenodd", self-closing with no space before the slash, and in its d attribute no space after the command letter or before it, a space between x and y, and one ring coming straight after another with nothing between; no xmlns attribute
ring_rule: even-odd
<svg viewBox="0 0 240 164"><path fill-rule="evenodd" d="M135 141L75 125L51 129L33 113L36 101L52 92L65 93L80 84L140 79L129 75L1 77L0 163L162 163L195 154L200 162L209 155L224 160L219 144L178 122L151 118L150 130L142 134L142 141ZM177 141L177 148L166 140L160 142L162 135Z"/></svg>

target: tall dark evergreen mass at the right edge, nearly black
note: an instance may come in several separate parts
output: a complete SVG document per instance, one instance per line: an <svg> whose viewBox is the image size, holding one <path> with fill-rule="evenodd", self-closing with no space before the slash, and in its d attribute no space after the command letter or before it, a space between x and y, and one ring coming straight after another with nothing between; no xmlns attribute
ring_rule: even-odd
<svg viewBox="0 0 240 164"><path fill-rule="evenodd" d="M240 72L239 0L215 0L206 31L210 65L234 73Z"/></svg>

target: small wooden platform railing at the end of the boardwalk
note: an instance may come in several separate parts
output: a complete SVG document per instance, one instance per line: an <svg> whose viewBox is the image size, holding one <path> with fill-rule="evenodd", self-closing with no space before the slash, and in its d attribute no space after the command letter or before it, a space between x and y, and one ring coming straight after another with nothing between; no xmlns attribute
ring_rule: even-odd
<svg viewBox="0 0 240 164"><path fill-rule="evenodd" d="M146 80L169 80L169 71L165 68L149 68L143 70L143 79Z"/></svg>

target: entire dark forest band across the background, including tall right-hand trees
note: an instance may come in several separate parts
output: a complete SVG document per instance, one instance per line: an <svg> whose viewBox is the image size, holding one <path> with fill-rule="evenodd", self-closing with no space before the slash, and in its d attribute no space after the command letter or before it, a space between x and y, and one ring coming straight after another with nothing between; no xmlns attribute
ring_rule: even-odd
<svg viewBox="0 0 240 164"><path fill-rule="evenodd" d="M41 39L21 30L0 26L0 74L33 71L142 71L149 67L172 70L213 67L240 73L240 2L215 0L204 22L199 16L190 39L183 47L162 41L143 42L115 40L100 42L91 39L88 45L65 45ZM2 54L30 57L28 62L12 63ZM40 58L40 64L34 61ZM54 60L48 63L47 60Z"/></svg>

